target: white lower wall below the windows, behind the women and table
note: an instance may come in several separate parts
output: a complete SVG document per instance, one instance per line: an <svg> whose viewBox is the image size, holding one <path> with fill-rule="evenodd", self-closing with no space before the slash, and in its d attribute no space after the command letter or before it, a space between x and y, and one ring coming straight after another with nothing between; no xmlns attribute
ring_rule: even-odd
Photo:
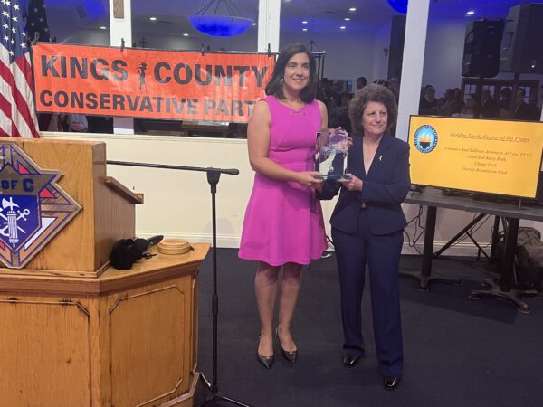
<svg viewBox="0 0 543 407"><path fill-rule="evenodd" d="M245 206L252 189L253 172L247 157L245 140L167 137L138 135L93 135L81 133L43 133L51 139L85 139L103 141L107 144L109 160L140 163L170 164L176 166L214 166L238 168L240 175L221 175L217 185L217 246L238 247ZM108 166L108 175L115 177L129 189L143 193L145 203L137 206L136 232L138 237L164 234L192 242L211 241L211 194L205 173L186 172L131 166ZM335 202L323 202L325 224L329 233L329 216ZM405 204L408 220L419 212L419 207ZM472 213L438 210L435 230L435 250L472 220ZM425 214L422 217L424 226ZM491 238L492 221L487 222L474 233L482 245ZM534 222L522 222L533 225ZM421 232L413 222L406 232L413 239ZM424 239L416 245L422 251ZM405 240L404 252L414 253ZM447 251L447 254L474 255L476 250L471 241L463 241Z"/></svg>

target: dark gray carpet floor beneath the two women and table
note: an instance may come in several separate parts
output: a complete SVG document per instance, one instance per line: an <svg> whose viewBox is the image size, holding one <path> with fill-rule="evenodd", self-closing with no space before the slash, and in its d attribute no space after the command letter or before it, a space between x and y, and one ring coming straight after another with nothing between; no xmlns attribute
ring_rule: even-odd
<svg viewBox="0 0 543 407"><path fill-rule="evenodd" d="M334 257L304 273L292 334L300 352L295 365L276 350L265 370L255 359L259 320L253 281L256 263L237 251L218 250L218 389L258 407L503 406L543 405L543 299L528 299L521 314L508 303L472 300L489 275L484 260L443 257L433 272L462 279L423 292L401 279L405 372L395 392L377 372L369 295L362 304L367 352L354 368L341 364L341 319ZM418 270L421 258L402 258ZM199 370L212 380L212 254L201 270ZM542 293L543 295L543 293ZM196 404L209 392L200 386ZM233 405L210 402L208 406Z"/></svg>

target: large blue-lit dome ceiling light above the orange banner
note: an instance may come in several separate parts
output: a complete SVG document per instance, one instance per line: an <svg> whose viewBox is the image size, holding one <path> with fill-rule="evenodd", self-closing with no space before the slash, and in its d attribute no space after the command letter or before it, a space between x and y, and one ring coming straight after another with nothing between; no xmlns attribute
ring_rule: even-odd
<svg viewBox="0 0 543 407"><path fill-rule="evenodd" d="M214 14L205 14L214 4ZM217 14L219 5L224 5L228 15ZM234 15L234 12L238 15ZM233 4L232 0L211 0L198 10L195 15L188 17L188 20L200 33L213 37L239 35L254 23L250 18L243 16L241 10Z"/></svg>

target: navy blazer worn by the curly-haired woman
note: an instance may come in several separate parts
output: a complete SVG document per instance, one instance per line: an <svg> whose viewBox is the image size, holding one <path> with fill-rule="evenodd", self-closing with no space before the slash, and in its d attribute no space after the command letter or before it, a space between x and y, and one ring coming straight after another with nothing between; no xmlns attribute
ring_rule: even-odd
<svg viewBox="0 0 543 407"><path fill-rule="evenodd" d="M363 182L362 191L341 188L336 181L326 181L319 199L332 199L338 190L338 203L330 217L332 227L342 232L357 232L358 215L363 204L372 234L401 231L407 225L402 202L411 187L409 177L409 145L398 138L383 136L369 171L364 170L362 137L354 136L349 148L347 171Z"/></svg>

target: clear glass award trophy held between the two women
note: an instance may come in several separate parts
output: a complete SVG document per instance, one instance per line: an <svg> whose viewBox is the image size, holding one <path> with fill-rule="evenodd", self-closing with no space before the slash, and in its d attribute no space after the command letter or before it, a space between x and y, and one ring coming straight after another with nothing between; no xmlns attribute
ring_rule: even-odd
<svg viewBox="0 0 543 407"><path fill-rule="evenodd" d="M323 128L317 132L315 170L323 179L345 178L348 134L343 129Z"/></svg>

